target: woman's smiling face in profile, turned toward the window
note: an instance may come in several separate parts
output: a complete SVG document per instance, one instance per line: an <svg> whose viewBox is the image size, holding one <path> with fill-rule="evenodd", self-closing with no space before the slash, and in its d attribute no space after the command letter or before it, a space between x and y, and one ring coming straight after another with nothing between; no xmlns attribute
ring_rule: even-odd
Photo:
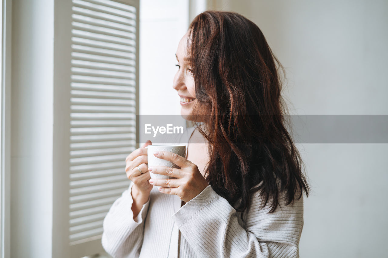
<svg viewBox="0 0 388 258"><path fill-rule="evenodd" d="M180 114L191 115L197 100L195 98L194 77L191 67L187 61L187 38L186 33L179 41L176 58L178 61L178 71L174 76L173 88L178 91L180 96L180 105L182 106Z"/></svg>

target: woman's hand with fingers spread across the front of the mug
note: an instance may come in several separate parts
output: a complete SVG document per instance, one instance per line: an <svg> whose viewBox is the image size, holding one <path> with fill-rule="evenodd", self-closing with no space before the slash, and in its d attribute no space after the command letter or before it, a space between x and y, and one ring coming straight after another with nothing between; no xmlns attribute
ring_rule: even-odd
<svg viewBox="0 0 388 258"><path fill-rule="evenodd" d="M168 160L180 167L180 169L165 166L148 167L148 171L152 173L177 178L150 179L150 184L161 186L159 188L161 193L175 194L180 200L187 203L209 185L201 172L199 172L197 165L184 157L169 151L155 151L154 156Z"/></svg>

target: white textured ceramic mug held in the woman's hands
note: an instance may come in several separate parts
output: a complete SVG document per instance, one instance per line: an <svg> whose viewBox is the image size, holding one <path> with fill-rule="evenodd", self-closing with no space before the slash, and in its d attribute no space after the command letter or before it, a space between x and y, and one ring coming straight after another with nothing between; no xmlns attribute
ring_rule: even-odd
<svg viewBox="0 0 388 258"><path fill-rule="evenodd" d="M156 145L148 145L147 147L147 156L148 156L148 167L154 167L154 166L166 166L166 167L173 167L173 168L179 168L174 163L163 160L161 158L157 158L154 156L154 151L169 151L172 153L176 153L182 157L186 157L186 145L174 145L174 144L156 144ZM151 178L155 179L168 179L170 178L168 175L160 175L160 174L154 174L149 172L149 175ZM159 188L160 186L158 186Z"/></svg>

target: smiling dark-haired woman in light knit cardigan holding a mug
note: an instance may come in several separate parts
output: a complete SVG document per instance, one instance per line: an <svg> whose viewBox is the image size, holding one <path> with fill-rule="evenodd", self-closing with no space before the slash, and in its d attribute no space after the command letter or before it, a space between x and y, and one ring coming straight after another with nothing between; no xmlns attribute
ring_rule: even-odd
<svg viewBox="0 0 388 258"><path fill-rule="evenodd" d="M113 257L299 257L309 187L262 32L239 14L206 11L176 56L173 88L196 125L187 158L161 151L180 169L147 168L150 141L128 155L131 183L106 215L102 245Z"/></svg>

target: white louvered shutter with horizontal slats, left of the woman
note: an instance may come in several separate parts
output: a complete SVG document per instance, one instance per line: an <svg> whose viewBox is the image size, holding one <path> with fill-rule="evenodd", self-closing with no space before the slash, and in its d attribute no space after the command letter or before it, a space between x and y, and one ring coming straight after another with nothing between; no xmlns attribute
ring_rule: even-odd
<svg viewBox="0 0 388 258"><path fill-rule="evenodd" d="M137 148L139 0L72 0L68 247L102 251L102 222Z"/></svg>

